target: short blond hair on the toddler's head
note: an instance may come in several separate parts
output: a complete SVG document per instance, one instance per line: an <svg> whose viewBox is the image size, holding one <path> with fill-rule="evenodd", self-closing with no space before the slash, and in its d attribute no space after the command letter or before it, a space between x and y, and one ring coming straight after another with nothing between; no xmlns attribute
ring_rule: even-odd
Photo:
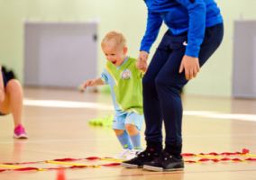
<svg viewBox="0 0 256 180"><path fill-rule="evenodd" d="M101 41L101 47L104 47L110 42L114 42L115 47L126 47L126 39L123 34L118 31L109 31L106 33L104 39Z"/></svg>

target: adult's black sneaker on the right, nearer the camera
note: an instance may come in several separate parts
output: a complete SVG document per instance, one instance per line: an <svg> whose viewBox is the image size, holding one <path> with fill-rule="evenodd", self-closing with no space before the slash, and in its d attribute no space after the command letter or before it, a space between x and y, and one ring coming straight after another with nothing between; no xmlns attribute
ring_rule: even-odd
<svg viewBox="0 0 256 180"><path fill-rule="evenodd" d="M184 161L174 157L168 152L162 151L160 157L144 164L143 169L151 171L178 171L184 168Z"/></svg>

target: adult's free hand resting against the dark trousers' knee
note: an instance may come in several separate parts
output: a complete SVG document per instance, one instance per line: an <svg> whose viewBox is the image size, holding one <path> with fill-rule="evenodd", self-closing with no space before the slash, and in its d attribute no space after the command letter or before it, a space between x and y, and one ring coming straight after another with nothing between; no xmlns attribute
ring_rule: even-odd
<svg viewBox="0 0 256 180"><path fill-rule="evenodd" d="M199 70L199 59L185 55L181 60L178 72L182 73L183 71L185 71L186 79L190 80L197 76Z"/></svg>

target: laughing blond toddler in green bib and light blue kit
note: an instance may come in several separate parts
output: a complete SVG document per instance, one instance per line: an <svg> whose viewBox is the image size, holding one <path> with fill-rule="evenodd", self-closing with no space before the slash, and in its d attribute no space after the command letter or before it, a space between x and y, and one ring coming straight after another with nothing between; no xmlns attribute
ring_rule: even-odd
<svg viewBox="0 0 256 180"><path fill-rule="evenodd" d="M113 129L123 151L117 158L131 159L142 149L142 73L136 59L128 57L126 40L122 33L110 31L101 42L101 48L107 59L102 76L87 80L81 85L110 85L114 103Z"/></svg>

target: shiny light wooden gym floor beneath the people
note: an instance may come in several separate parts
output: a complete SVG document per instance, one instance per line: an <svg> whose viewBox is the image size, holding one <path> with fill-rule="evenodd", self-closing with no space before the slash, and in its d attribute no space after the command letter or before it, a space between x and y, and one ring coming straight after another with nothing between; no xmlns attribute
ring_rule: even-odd
<svg viewBox="0 0 256 180"><path fill-rule="evenodd" d="M92 118L112 114L110 95L25 88L24 96L23 120L30 138L13 139L12 117L1 116L0 164L64 157L114 157L121 151L111 128L88 125ZM183 101L184 153L235 152L248 148L251 154L256 154L256 100L184 96ZM144 145L143 139L142 142ZM96 164L94 161L83 163ZM0 179L55 180L56 175L55 170L9 171L0 173ZM101 166L67 169L65 175L67 180L251 180L256 179L256 162L186 163L183 172L170 173Z"/></svg>

